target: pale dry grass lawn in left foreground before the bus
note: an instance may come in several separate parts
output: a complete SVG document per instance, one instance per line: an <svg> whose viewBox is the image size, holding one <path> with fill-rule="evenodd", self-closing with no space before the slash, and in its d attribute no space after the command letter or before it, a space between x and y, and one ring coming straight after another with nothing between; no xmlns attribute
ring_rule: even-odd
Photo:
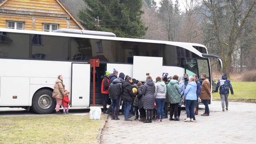
<svg viewBox="0 0 256 144"><path fill-rule="evenodd" d="M106 120L88 115L38 115L0 117L0 144L97 144Z"/></svg>

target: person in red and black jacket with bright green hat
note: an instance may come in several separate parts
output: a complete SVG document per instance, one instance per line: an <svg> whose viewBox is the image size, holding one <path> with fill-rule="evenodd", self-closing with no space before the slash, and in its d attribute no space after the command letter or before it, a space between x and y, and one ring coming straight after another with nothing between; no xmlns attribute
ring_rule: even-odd
<svg viewBox="0 0 256 144"><path fill-rule="evenodd" d="M104 96L103 114L106 114L107 103L108 103L108 99L109 99L109 92L108 92L109 75L110 75L110 72L106 71L106 74L104 76L102 76L103 80L101 82L101 93Z"/></svg>

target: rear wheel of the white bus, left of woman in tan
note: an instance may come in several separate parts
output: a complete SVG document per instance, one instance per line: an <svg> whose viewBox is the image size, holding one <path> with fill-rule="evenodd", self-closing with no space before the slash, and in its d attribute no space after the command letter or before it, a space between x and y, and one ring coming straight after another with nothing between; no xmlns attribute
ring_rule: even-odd
<svg viewBox="0 0 256 144"><path fill-rule="evenodd" d="M48 89L38 90L32 98L32 110L38 114L50 114L56 107L56 100L52 97L52 91Z"/></svg>

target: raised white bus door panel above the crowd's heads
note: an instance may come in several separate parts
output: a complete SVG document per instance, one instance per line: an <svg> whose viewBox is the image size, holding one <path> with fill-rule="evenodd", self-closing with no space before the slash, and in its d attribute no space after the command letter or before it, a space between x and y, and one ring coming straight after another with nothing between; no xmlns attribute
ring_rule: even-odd
<svg viewBox="0 0 256 144"><path fill-rule="evenodd" d="M134 56L133 58L132 78L145 82L147 76L151 76L153 80L162 76L162 57Z"/></svg>

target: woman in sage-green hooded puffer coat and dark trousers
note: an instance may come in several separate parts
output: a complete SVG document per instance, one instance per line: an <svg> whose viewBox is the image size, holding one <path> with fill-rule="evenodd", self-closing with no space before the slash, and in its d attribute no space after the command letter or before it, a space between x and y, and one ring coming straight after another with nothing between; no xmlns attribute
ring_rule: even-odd
<svg viewBox="0 0 256 144"><path fill-rule="evenodd" d="M168 96L170 99L171 109L170 109L170 120L179 121L178 115L178 105L182 102L180 97L180 85L178 82L178 76L174 75L172 80L168 84ZM172 118L174 113L174 119Z"/></svg>

